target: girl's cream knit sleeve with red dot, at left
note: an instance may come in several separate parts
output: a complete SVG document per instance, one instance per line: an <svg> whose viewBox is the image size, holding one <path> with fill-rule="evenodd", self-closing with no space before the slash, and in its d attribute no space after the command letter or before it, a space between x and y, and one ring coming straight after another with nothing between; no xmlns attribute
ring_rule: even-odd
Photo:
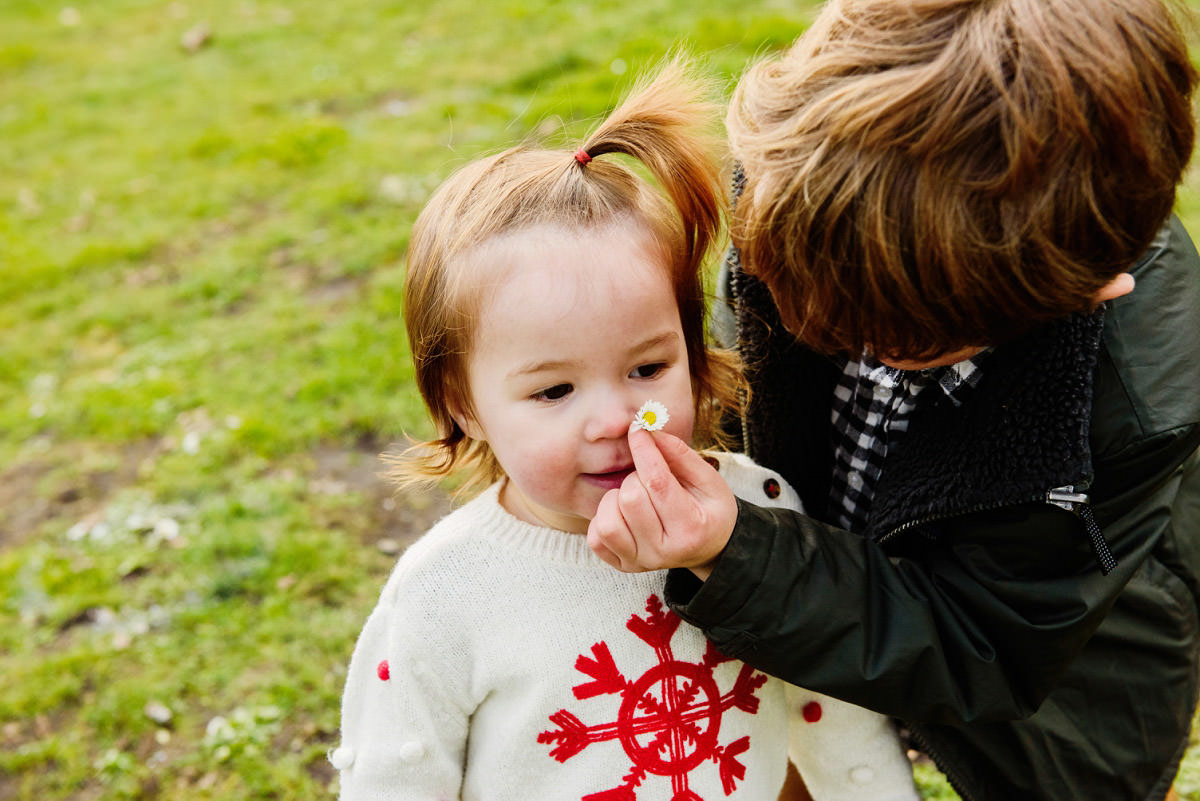
<svg viewBox="0 0 1200 801"><path fill-rule="evenodd" d="M342 801L457 799L470 716L466 655L440 594L397 570L367 619L342 698L342 742L330 754Z"/></svg>

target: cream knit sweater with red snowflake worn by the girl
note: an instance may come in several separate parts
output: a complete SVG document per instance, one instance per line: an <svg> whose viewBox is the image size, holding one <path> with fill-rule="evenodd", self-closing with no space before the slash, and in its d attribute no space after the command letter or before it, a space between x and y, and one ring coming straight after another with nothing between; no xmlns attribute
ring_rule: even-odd
<svg viewBox="0 0 1200 801"><path fill-rule="evenodd" d="M720 459L739 495L798 508L775 474ZM330 754L341 799L774 801L785 683L666 609L665 572L620 573L582 535L516 519L498 492L414 543L367 619ZM917 797L884 718L792 692L793 731L830 733L802 746L817 801Z"/></svg>

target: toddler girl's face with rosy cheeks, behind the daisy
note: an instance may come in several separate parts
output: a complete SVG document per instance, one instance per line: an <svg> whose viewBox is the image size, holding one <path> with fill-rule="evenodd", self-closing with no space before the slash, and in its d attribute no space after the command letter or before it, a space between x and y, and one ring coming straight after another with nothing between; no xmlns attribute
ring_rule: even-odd
<svg viewBox="0 0 1200 801"><path fill-rule="evenodd" d="M648 399L684 441L694 423L679 311L659 251L638 227L535 228L487 243L463 430L488 444L517 518L584 532L600 498L632 472L625 438Z"/></svg>

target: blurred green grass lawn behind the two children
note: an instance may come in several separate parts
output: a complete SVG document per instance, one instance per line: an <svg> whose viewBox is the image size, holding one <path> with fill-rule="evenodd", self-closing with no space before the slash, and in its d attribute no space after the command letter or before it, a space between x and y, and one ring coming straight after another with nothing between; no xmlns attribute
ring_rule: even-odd
<svg viewBox="0 0 1200 801"><path fill-rule="evenodd" d="M426 433L416 211L815 5L5 0L0 799L331 797L354 638L445 508L376 475Z"/></svg>

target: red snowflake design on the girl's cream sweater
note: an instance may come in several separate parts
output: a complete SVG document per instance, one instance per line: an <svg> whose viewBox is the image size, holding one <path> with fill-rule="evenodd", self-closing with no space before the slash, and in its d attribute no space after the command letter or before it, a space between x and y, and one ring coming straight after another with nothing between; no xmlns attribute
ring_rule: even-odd
<svg viewBox="0 0 1200 801"><path fill-rule="evenodd" d="M550 755L560 763L592 743L618 740L632 760L622 784L583 796L582 801L636 801L636 789L648 775L671 779L672 801L704 801L688 788L688 775L706 760L720 770L721 788L730 795L737 782L745 778L745 765L738 755L750 747L744 736L721 746L718 736L721 716L731 709L750 715L758 711L755 692L767 682L748 664L742 666L733 688L721 693L713 676L713 668L730 658L708 644L698 663L680 662L671 652L671 638L682 622L671 610L662 608L656 596L646 602L646 618L632 615L625 624L647 645L654 649L658 664L636 681L622 675L606 643L592 646L592 656L580 655L575 669L592 680L574 687L578 699L602 694L619 694L620 710L613 723L588 725L575 715L560 709L550 716L557 729L538 735L538 742L554 745Z"/></svg>

